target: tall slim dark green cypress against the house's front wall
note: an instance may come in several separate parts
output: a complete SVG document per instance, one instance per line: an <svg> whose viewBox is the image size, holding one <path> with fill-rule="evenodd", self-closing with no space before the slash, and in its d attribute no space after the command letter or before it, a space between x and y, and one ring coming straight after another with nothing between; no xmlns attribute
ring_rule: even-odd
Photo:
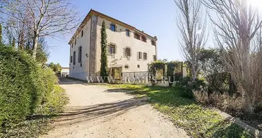
<svg viewBox="0 0 262 138"><path fill-rule="evenodd" d="M106 53L106 45L107 45L107 34L105 28L105 21L103 21L101 28L101 68L100 68L100 76L105 78L108 77L108 57Z"/></svg>

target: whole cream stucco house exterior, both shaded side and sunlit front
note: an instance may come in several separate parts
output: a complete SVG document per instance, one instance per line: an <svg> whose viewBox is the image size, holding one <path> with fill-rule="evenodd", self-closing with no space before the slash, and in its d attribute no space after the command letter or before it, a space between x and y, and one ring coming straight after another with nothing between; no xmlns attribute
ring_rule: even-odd
<svg viewBox="0 0 262 138"><path fill-rule="evenodd" d="M114 53L110 53L108 49L109 70L111 68L121 68L121 72L148 71L148 63L157 59L157 37L151 37L117 19L90 10L88 16L85 17L85 20L69 42L70 77L83 80L86 77L99 77L101 66L100 30L103 21L105 21L107 28L108 47L114 46ZM114 24L115 30L110 29L111 24ZM139 35L140 40L134 38L135 34ZM146 41L142 41L142 37ZM78 60L80 46L82 50L81 61ZM125 55L125 48L130 48L130 56Z"/></svg>

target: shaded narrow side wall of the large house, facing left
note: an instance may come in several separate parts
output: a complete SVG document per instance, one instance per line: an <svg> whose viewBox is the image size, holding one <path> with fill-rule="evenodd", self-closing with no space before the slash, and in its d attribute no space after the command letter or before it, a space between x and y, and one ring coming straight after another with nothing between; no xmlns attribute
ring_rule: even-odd
<svg viewBox="0 0 262 138"><path fill-rule="evenodd" d="M70 77L83 79L85 80L86 77L89 75L90 70L90 25L91 21L89 20L88 23L85 24L83 27L83 37L81 37L81 32L77 35L77 44L73 46L70 50L70 56L73 56L73 52L76 52L76 64L73 65L73 62L70 63ZM74 43L74 41L72 41ZM78 62L78 52L79 46L82 46L82 66L81 63Z"/></svg>

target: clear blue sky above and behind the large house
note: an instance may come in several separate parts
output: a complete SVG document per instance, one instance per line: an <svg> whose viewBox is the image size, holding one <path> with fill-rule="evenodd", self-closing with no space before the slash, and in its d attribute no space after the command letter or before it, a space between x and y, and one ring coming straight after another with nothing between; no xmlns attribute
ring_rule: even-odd
<svg viewBox="0 0 262 138"><path fill-rule="evenodd" d="M73 0L72 3L82 18L93 9L128 23L151 36L157 36L159 59L183 60L178 41L174 0ZM48 63L60 63L62 67L69 67L68 41L71 37L72 34L61 39L47 38L50 46Z"/></svg>

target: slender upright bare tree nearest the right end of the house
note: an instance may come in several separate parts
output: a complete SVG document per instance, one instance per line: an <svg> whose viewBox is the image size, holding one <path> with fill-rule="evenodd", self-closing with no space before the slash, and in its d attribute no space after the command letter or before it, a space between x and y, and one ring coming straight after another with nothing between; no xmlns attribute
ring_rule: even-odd
<svg viewBox="0 0 262 138"><path fill-rule="evenodd" d="M181 49L184 57L190 62L193 80L199 71L199 53L205 46L205 16L200 0L174 0L179 9L177 26L181 33Z"/></svg>

